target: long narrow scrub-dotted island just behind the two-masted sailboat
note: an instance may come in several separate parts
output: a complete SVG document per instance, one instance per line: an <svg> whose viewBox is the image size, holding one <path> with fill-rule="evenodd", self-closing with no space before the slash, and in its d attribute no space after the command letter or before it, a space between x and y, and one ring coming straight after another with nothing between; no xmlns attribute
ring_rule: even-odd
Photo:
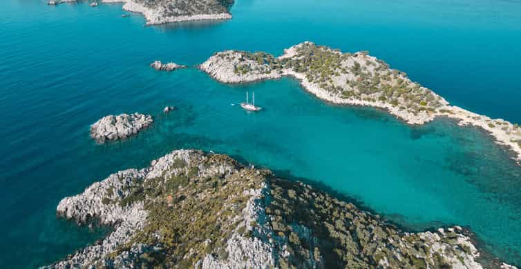
<svg viewBox="0 0 521 269"><path fill-rule="evenodd" d="M407 74L368 55L343 53L306 41L284 50L280 57L265 52L217 52L200 69L223 83L244 83L292 76L316 97L332 103L370 106L387 110L409 124L424 124L449 117L460 126L477 126L496 143L508 146L521 160L521 127L491 119L457 106L411 81Z"/></svg>

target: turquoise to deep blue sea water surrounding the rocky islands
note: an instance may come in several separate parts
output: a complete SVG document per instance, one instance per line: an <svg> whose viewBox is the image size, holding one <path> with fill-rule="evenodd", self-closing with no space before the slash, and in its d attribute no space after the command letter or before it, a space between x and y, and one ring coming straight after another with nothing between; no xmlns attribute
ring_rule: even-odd
<svg viewBox="0 0 521 269"><path fill-rule="evenodd" d="M46 265L102 237L58 219L59 200L179 148L315 183L408 230L467 226L521 265L521 166L481 130L332 106L289 78L228 86L195 68L149 67L310 40L369 50L457 106L521 123L520 0L237 0L231 11L230 21L144 27L118 4L0 1L0 268ZM231 106L246 91L262 112ZM91 123L122 112L155 122L94 143Z"/></svg>

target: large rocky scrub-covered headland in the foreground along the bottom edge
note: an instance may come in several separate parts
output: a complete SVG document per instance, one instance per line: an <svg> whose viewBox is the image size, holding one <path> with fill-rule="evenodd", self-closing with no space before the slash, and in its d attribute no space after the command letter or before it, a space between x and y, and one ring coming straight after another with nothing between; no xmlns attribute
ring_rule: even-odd
<svg viewBox="0 0 521 269"><path fill-rule="evenodd" d="M57 213L113 231L46 268L482 268L460 227L405 232L305 183L199 150L117 172L62 199Z"/></svg>

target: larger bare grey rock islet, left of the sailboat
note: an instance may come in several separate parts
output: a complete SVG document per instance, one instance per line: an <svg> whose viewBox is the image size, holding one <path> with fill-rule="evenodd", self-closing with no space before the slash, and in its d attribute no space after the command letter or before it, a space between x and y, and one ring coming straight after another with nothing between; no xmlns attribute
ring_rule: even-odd
<svg viewBox="0 0 521 269"><path fill-rule="evenodd" d="M91 137L98 143L117 140L137 134L153 122L151 115L140 113L108 115L91 126Z"/></svg>

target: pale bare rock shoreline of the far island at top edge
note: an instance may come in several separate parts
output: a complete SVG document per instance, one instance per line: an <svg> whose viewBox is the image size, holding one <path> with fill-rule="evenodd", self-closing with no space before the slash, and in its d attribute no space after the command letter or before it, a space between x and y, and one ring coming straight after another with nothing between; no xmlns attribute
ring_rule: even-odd
<svg viewBox="0 0 521 269"><path fill-rule="evenodd" d="M55 1L57 3L70 3L81 0L61 0ZM141 13L146 19L146 25L158 25L164 23L175 23L182 21L209 21L209 20L224 20L231 19L231 14L228 12L221 12L215 14L192 14L192 15L167 15L167 8L158 5L155 8L144 6L142 3L138 3L133 0L101 0L101 3L123 3L123 10L129 12Z"/></svg>

